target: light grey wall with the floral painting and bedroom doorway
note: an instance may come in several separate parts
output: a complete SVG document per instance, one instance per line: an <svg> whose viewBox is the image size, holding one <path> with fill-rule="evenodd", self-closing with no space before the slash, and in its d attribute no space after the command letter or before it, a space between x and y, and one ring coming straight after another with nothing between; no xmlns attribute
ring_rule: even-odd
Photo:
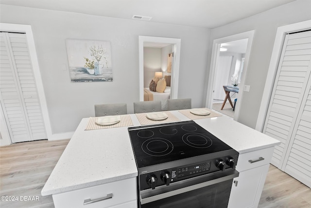
<svg viewBox="0 0 311 208"><path fill-rule="evenodd" d="M74 131L82 118L94 116L94 104L125 102L133 113L139 100L138 35L181 39L178 97L192 98L193 107L205 103L209 29L3 4L0 14L2 23L32 26L52 134ZM113 82L71 83L67 38L110 41Z"/></svg>

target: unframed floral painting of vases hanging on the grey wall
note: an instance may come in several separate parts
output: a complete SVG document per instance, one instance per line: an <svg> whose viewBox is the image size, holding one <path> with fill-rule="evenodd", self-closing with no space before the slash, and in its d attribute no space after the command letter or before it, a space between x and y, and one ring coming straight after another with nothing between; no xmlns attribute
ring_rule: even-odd
<svg viewBox="0 0 311 208"><path fill-rule="evenodd" d="M67 39L71 82L111 82L112 63L109 41Z"/></svg>

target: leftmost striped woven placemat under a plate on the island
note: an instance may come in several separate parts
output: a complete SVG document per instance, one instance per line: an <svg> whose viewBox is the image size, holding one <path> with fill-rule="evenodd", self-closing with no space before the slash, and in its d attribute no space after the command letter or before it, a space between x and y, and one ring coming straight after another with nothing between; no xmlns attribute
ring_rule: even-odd
<svg viewBox="0 0 311 208"><path fill-rule="evenodd" d="M120 117L121 121L112 125L99 125L95 122L98 117L89 117L85 130L107 129L133 125L130 115L120 115Z"/></svg>

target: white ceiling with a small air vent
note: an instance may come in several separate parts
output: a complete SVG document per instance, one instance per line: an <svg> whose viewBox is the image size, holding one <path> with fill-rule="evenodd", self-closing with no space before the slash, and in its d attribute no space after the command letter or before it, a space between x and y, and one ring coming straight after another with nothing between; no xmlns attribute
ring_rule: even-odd
<svg viewBox="0 0 311 208"><path fill-rule="evenodd" d="M1 4L26 6L95 16L216 28L294 0L1 0ZM137 20L144 21L144 20Z"/></svg>

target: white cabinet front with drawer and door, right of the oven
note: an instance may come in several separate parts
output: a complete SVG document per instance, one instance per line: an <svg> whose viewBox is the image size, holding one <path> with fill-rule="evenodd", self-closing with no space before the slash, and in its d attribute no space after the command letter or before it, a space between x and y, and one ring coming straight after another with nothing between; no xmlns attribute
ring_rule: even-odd
<svg viewBox="0 0 311 208"><path fill-rule="evenodd" d="M268 173L274 147L244 153L239 156L228 208L257 208Z"/></svg>

